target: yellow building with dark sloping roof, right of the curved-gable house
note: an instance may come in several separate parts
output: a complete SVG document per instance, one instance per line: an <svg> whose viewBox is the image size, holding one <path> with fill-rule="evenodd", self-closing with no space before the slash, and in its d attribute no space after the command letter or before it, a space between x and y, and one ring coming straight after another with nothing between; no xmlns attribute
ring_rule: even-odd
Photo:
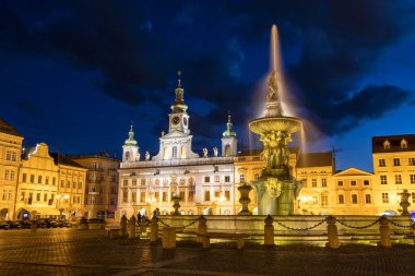
<svg viewBox="0 0 415 276"><path fill-rule="evenodd" d="M85 180L87 169L60 153L52 153L59 167L57 209L61 218L75 218L84 214Z"/></svg>

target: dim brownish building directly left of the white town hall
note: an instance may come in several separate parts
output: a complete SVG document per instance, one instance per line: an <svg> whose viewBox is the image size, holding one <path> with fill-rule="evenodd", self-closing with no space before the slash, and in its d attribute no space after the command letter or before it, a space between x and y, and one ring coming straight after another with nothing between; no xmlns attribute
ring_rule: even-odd
<svg viewBox="0 0 415 276"><path fill-rule="evenodd" d="M85 185L84 216L114 218L117 211L119 160L107 153L73 155L72 160L88 168Z"/></svg>

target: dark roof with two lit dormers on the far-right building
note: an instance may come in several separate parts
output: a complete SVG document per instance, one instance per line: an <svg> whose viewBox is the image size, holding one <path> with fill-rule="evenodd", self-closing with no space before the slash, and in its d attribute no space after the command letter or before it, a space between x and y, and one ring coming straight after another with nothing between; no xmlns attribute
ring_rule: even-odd
<svg viewBox="0 0 415 276"><path fill-rule="evenodd" d="M407 147L401 147L401 141L406 140ZM389 141L390 147L384 148L384 141ZM371 152L375 153L394 153L394 152L414 152L415 151L415 135L414 134L401 134L401 135L387 135L387 136L374 136L371 139Z"/></svg>

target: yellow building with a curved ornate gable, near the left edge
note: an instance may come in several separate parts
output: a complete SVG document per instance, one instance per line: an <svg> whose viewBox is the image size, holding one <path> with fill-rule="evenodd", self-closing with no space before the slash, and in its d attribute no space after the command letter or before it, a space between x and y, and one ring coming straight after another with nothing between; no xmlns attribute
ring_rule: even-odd
<svg viewBox="0 0 415 276"><path fill-rule="evenodd" d="M48 145L37 144L22 160L19 171L15 204L19 219L58 217L58 181L59 167L50 157Z"/></svg>

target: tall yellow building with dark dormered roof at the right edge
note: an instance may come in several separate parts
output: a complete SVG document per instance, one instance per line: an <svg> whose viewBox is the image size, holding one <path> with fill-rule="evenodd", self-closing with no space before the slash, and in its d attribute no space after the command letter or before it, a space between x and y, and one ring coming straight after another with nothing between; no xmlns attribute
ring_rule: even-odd
<svg viewBox="0 0 415 276"><path fill-rule="evenodd" d="M410 211L415 211L415 135L372 137L375 202L378 213L400 213L403 190L411 193Z"/></svg>

